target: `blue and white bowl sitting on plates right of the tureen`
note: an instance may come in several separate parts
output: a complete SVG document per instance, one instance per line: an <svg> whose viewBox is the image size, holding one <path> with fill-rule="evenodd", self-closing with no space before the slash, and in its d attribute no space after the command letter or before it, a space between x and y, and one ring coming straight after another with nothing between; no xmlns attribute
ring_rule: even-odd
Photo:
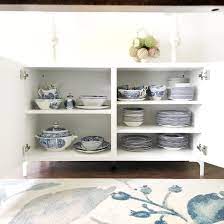
<svg viewBox="0 0 224 224"><path fill-rule="evenodd" d="M96 150L102 145L103 141L104 139L101 136L85 136L81 138L82 146L86 150Z"/></svg>

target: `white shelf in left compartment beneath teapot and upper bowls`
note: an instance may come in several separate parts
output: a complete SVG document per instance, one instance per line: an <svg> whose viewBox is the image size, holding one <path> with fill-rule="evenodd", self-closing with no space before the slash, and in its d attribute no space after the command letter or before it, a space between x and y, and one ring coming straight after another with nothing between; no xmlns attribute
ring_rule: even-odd
<svg viewBox="0 0 224 224"><path fill-rule="evenodd" d="M27 110L26 114L111 114L111 109L105 109L105 110L83 110L83 109Z"/></svg>

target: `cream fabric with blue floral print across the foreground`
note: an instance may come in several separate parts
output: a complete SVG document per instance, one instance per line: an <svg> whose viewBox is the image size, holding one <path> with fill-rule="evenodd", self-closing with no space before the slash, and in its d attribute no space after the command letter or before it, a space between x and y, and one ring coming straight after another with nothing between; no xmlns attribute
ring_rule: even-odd
<svg viewBox="0 0 224 224"><path fill-rule="evenodd" d="M1 180L0 203L0 224L224 224L224 180Z"/></svg>

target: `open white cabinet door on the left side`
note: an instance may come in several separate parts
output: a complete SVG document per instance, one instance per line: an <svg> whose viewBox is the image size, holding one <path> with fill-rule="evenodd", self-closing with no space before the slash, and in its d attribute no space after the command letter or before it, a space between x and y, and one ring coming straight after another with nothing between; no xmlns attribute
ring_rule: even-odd
<svg viewBox="0 0 224 224"><path fill-rule="evenodd" d="M0 178L22 176L22 146L24 145L24 81L21 65L0 58Z"/></svg>

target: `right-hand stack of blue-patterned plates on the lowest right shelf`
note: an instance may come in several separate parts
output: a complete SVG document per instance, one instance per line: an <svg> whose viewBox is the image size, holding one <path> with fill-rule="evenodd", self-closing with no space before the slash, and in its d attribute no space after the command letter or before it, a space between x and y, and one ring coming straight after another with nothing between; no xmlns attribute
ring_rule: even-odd
<svg viewBox="0 0 224 224"><path fill-rule="evenodd" d="M187 134L160 134L158 146L167 150L179 150L189 147L189 135Z"/></svg>

